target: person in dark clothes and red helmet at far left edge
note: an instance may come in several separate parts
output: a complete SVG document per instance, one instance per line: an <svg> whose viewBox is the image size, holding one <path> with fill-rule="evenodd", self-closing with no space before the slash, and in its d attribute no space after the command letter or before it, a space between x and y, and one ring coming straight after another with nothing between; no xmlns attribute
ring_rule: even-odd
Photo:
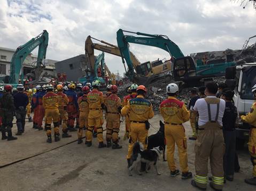
<svg viewBox="0 0 256 191"><path fill-rule="evenodd" d="M0 99L0 116L2 118L2 140L16 140L17 137L12 136L12 121L13 121L13 113L15 111L15 106L13 103L12 97L12 86L5 85L4 86L5 93L3 97ZM6 137L7 132L7 137Z"/></svg>

